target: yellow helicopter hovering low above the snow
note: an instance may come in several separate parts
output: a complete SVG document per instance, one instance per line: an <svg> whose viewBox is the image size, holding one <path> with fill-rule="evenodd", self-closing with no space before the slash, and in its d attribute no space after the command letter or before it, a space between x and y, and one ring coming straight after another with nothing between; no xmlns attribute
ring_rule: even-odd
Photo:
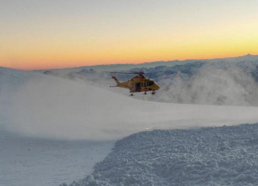
<svg viewBox="0 0 258 186"><path fill-rule="evenodd" d="M144 74L151 74L151 73L159 73L159 72L151 72L151 73L144 73L144 72L130 72L130 73L123 73L123 72L105 72L105 73L114 73L114 74L137 74L134 78L126 81L126 82L119 82L115 76L112 76L114 79L116 86L109 86L109 87L121 87L130 90L131 96L133 96L134 92L144 92L147 94L147 91L152 91L151 94L155 94L155 91L160 89L160 86L154 80L148 79L144 76Z"/></svg>

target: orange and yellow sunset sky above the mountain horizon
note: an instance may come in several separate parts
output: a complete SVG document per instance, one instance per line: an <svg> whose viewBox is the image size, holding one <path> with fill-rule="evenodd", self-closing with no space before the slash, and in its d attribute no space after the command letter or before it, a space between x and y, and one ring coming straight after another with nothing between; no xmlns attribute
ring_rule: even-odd
<svg viewBox="0 0 258 186"><path fill-rule="evenodd" d="M256 0L0 1L0 66L51 69L258 54Z"/></svg>

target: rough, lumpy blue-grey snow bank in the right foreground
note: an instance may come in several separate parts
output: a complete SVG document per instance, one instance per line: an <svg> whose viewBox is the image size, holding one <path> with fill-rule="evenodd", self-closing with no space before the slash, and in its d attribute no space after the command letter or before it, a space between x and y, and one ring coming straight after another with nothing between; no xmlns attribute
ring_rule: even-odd
<svg viewBox="0 0 258 186"><path fill-rule="evenodd" d="M70 185L258 185L257 133L258 123L133 134Z"/></svg>

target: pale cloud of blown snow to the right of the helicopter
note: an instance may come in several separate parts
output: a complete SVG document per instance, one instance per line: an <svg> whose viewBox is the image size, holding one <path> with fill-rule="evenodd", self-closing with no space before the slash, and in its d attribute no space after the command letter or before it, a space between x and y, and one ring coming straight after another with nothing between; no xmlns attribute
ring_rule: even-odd
<svg viewBox="0 0 258 186"><path fill-rule="evenodd" d="M248 68L248 64L244 67ZM193 68L168 78L159 77L161 90L158 100L210 105L258 105L257 82L237 64L203 64L195 68L194 75L191 74Z"/></svg>

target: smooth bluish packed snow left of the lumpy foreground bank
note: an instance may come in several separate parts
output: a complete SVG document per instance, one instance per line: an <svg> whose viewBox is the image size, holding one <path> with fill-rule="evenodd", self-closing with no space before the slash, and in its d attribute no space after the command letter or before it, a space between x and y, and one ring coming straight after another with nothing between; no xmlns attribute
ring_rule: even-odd
<svg viewBox="0 0 258 186"><path fill-rule="evenodd" d="M52 186L89 175L114 142L60 141L0 131L0 185Z"/></svg>

